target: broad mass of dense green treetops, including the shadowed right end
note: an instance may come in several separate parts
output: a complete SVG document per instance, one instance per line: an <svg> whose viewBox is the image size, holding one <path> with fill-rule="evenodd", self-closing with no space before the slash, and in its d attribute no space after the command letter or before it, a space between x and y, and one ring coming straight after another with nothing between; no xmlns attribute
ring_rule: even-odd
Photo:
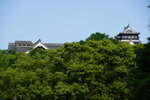
<svg viewBox="0 0 150 100"><path fill-rule="evenodd" d="M0 97L147 100L150 93L148 46L114 44L103 39L65 43L55 50L34 49L29 54L1 50Z"/></svg>

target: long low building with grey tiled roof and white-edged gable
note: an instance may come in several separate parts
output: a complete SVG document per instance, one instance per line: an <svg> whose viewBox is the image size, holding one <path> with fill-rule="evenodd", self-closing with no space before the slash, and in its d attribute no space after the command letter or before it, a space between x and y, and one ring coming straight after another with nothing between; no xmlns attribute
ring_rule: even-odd
<svg viewBox="0 0 150 100"><path fill-rule="evenodd" d="M58 47L64 46L64 43L42 43L39 39L37 42L32 43L31 41L15 41L14 43L9 43L8 50L15 50L16 52L29 53L31 49L43 48L43 49L56 49Z"/></svg>

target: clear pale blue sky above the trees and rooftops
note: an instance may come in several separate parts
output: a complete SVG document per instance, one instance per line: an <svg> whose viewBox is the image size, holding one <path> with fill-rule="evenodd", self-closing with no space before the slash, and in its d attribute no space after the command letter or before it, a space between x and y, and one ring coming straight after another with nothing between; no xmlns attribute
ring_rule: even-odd
<svg viewBox="0 0 150 100"><path fill-rule="evenodd" d="M15 40L64 43L84 40L94 32L114 37L128 23L146 43L148 4L148 0L0 0L0 49Z"/></svg>

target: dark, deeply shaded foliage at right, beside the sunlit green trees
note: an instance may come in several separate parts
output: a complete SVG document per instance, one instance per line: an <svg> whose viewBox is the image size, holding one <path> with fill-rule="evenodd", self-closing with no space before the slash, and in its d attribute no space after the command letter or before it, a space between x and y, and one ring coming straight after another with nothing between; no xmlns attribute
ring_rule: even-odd
<svg viewBox="0 0 150 100"><path fill-rule="evenodd" d="M150 44L135 45L136 64L138 67L132 71L130 78L130 88L133 100L150 99Z"/></svg>

